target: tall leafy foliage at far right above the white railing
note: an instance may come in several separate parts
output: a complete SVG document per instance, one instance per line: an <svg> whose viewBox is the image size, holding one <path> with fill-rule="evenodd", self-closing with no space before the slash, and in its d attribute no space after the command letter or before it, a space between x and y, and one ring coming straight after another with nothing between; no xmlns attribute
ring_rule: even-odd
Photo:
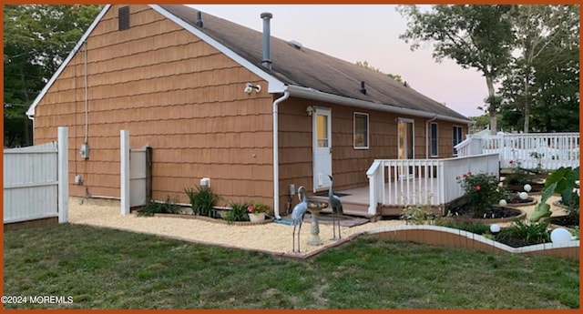
<svg viewBox="0 0 583 314"><path fill-rule="evenodd" d="M570 110L578 106L578 5L514 5L511 16L517 57L501 87L504 123L524 132L578 130L578 110ZM554 118L569 122L547 123Z"/></svg>

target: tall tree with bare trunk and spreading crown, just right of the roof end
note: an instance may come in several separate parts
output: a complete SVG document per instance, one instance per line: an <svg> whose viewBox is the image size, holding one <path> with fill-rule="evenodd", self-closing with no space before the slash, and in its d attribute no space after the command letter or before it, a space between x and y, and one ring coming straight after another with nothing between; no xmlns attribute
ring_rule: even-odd
<svg viewBox="0 0 583 314"><path fill-rule="evenodd" d="M514 45L511 8L512 5L433 5L429 12L422 12L416 5L397 6L408 19L408 28L399 38L412 43L412 50L422 42L433 43L437 62L451 58L463 68L476 68L486 78L486 104L493 134L500 104L494 84L503 76Z"/></svg>

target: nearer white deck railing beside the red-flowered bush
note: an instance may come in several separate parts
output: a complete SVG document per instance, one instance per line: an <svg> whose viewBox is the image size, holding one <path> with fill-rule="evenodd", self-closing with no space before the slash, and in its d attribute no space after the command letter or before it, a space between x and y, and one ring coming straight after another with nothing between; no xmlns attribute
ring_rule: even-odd
<svg viewBox="0 0 583 314"><path fill-rule="evenodd" d="M464 195L455 177L468 172L499 177L498 155L374 160L366 172L370 193L368 213L374 215L379 204L444 206Z"/></svg>

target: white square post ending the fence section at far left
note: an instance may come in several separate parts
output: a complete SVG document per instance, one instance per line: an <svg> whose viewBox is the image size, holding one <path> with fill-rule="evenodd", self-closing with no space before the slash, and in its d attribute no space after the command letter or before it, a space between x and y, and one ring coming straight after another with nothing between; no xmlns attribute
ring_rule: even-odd
<svg viewBox="0 0 583 314"><path fill-rule="evenodd" d="M69 216L69 129L57 128L58 149L58 223L66 223Z"/></svg>

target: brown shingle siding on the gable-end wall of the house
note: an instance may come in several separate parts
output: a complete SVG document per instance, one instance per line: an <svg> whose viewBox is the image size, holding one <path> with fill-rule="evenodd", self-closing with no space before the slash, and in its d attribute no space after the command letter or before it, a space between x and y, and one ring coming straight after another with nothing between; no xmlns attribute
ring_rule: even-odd
<svg viewBox="0 0 583 314"><path fill-rule="evenodd" d="M114 5L87 38L89 159L77 156L85 137L82 50L36 110L37 143L54 140L57 126L71 127L71 182L76 173L85 180L71 195L83 197L87 187L91 195L119 196L119 130L128 129L131 147L152 147L156 199L186 202L183 189L200 177L225 198L270 199L266 83L147 6L130 11L128 30L117 31ZM265 91L247 95L247 82Z"/></svg>

